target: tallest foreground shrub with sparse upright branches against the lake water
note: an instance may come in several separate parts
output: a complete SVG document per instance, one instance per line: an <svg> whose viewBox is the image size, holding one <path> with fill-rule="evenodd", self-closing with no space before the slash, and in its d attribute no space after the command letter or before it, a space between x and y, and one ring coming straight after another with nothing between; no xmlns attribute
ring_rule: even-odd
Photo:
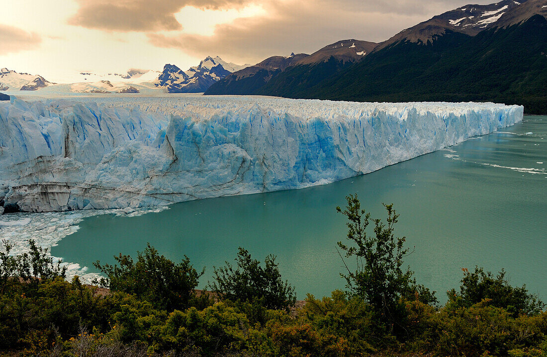
<svg viewBox="0 0 547 357"><path fill-rule="evenodd" d="M393 210L393 204L384 204L387 219L383 223L380 219L371 219L370 213L361 209L357 194L347 196L346 200L346 209L342 211L336 207L336 211L350 221L346 223L347 239L354 245L348 246L340 241L338 246L345 252L345 258L356 259L357 264L353 271L342 258L347 274L341 276L346 279L351 293L368 302L377 320L391 332L395 325L403 327L400 322L405 319L405 308L401 300L415 297L424 302L436 302L437 299L434 292L416 285L416 280L412 278L414 272L409 267L401 269L408 248L404 248L405 237L394 235L394 225L399 215ZM374 235L366 232L370 222L374 223Z"/></svg>

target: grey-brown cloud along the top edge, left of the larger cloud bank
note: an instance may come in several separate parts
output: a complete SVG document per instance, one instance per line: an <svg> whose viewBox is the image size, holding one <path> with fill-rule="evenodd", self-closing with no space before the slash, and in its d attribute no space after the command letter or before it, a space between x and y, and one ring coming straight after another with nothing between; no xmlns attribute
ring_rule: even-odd
<svg viewBox="0 0 547 357"><path fill-rule="evenodd" d="M69 25L106 31L182 29L174 17L185 6L199 9L237 8L247 0L77 0L78 12Z"/></svg>

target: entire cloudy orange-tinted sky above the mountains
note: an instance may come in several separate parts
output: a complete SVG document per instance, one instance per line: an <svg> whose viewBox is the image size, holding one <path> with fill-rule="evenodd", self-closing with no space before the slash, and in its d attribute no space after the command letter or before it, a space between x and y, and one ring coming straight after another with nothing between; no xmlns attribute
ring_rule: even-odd
<svg viewBox="0 0 547 357"><path fill-rule="evenodd" d="M83 71L187 69L207 55L254 64L341 39L383 41L468 2L0 0L0 68L63 82Z"/></svg>

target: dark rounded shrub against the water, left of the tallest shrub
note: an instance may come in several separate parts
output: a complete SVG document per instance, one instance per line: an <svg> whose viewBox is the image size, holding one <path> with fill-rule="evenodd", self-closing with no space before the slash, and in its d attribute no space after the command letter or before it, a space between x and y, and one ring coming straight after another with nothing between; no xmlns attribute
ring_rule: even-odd
<svg viewBox="0 0 547 357"><path fill-rule="evenodd" d="M260 301L265 308L288 309L294 305L296 295L294 288L287 281L283 282L275 255L267 255L265 266L260 261L251 258L246 249L239 248L237 267L234 269L228 261L226 265L214 268L213 283L210 289L232 301Z"/></svg>

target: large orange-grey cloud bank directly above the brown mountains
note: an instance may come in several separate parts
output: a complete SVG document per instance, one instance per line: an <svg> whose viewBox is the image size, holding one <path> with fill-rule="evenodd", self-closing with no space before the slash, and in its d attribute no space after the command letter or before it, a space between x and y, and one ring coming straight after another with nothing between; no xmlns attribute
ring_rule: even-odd
<svg viewBox="0 0 547 357"><path fill-rule="evenodd" d="M196 57L257 63L290 52L312 53L344 38L380 42L469 0L285 0L261 2L265 15L216 26L213 35L148 33L151 44ZM491 0L479 0L488 3Z"/></svg>

